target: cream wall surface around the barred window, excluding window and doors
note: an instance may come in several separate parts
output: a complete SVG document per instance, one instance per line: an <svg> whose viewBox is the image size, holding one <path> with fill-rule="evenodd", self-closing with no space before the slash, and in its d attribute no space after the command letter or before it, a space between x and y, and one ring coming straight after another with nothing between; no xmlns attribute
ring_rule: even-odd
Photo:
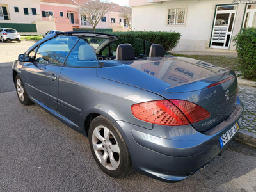
<svg viewBox="0 0 256 192"><path fill-rule="evenodd" d="M216 4L232 4L232 1L164 1L150 4L129 0L129 5L147 4L132 7L132 29L140 31L177 31L182 34L177 47L178 51L206 51L209 47ZM167 26L168 8L187 6L185 26ZM241 28L244 4L238 5L234 33ZM235 50L233 43L230 50Z"/></svg>

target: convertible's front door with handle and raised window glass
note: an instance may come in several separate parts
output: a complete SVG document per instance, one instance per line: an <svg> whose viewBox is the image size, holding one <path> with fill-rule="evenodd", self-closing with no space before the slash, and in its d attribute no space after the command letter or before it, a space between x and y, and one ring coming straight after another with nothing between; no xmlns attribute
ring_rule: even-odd
<svg viewBox="0 0 256 192"><path fill-rule="evenodd" d="M33 99L57 110L58 78L63 63L78 38L60 36L39 45L33 62L24 63L22 75Z"/></svg>

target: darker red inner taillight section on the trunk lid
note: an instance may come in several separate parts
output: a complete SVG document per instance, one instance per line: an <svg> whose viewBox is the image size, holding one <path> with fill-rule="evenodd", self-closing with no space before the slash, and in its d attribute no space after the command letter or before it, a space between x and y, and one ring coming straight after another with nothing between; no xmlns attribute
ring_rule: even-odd
<svg viewBox="0 0 256 192"><path fill-rule="evenodd" d="M170 100L188 118L189 122L195 123L210 117L210 113L204 108L186 100Z"/></svg>

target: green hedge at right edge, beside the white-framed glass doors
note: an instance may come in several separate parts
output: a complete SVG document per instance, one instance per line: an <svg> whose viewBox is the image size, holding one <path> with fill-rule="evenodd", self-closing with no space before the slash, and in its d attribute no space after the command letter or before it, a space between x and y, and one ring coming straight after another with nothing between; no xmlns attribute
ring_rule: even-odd
<svg viewBox="0 0 256 192"><path fill-rule="evenodd" d="M241 29L233 40L243 76L256 81L256 28Z"/></svg>

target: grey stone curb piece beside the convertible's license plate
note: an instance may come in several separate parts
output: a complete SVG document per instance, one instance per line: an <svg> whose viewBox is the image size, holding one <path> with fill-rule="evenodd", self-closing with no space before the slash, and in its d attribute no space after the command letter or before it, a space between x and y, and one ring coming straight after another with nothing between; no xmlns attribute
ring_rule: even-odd
<svg viewBox="0 0 256 192"><path fill-rule="evenodd" d="M239 129L235 139L256 148L256 134L253 132Z"/></svg>

